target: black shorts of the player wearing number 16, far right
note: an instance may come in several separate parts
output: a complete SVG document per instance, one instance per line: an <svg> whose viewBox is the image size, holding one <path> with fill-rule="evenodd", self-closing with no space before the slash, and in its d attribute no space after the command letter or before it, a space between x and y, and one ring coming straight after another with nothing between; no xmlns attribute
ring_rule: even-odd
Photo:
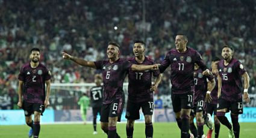
<svg viewBox="0 0 256 138"><path fill-rule="evenodd" d="M227 109L226 113L231 111L231 113L234 114L243 114L243 103L242 103L242 98L239 101L227 101L223 98L219 98L218 104L217 104L217 110L220 109Z"/></svg>

